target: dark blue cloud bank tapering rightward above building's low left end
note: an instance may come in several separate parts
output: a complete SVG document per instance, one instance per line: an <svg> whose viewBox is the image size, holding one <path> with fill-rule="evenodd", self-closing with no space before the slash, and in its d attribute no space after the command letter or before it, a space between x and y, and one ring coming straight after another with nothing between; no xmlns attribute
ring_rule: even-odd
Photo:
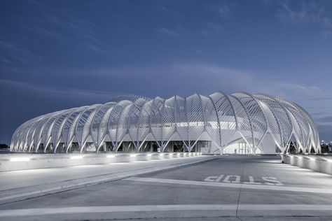
<svg viewBox="0 0 332 221"><path fill-rule="evenodd" d="M0 80L0 143L10 143L15 129L33 117L57 110L103 104L118 95L113 91L45 87Z"/></svg>

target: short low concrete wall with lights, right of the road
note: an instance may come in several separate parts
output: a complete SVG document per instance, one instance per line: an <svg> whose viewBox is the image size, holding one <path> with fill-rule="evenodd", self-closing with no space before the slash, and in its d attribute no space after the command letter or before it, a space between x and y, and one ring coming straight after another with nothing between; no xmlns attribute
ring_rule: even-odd
<svg viewBox="0 0 332 221"><path fill-rule="evenodd" d="M282 155L282 162L332 175L332 157L323 155Z"/></svg>

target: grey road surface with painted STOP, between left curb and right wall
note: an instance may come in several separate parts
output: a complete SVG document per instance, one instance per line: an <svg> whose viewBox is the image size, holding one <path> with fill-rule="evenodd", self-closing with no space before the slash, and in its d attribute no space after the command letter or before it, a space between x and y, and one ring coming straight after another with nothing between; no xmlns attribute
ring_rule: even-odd
<svg viewBox="0 0 332 221"><path fill-rule="evenodd" d="M0 205L0 220L220 218L331 220L332 177L280 164L279 157L211 157L189 166Z"/></svg>

